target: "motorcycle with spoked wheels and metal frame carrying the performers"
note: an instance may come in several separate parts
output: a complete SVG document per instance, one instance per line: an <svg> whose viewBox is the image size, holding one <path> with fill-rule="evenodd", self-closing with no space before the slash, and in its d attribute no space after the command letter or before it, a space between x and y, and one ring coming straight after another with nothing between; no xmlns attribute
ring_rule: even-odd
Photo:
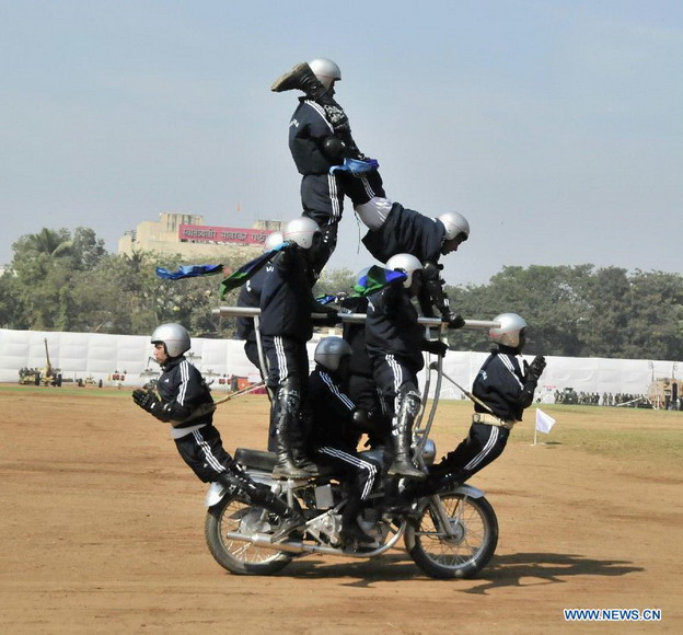
<svg viewBox="0 0 683 635"><path fill-rule="evenodd" d="M246 311L223 307L217 313L236 315ZM248 311L257 319L254 310ZM364 320L364 315L344 315L344 320L360 321ZM427 328L443 327L436 319L421 318L420 322ZM491 324L468 322L474 328ZM422 404L427 403L432 370L437 371L437 385L426 426L420 428L425 414L422 406L414 430L414 460L422 471L433 463L436 457L429 430L443 377L441 359L426 365L426 370ZM361 454L383 465L381 449ZM403 539L409 556L428 576L439 579L471 578L488 564L496 550L498 521L494 508L484 492L466 483L445 485L436 494L417 498L408 508L387 512L383 498L391 482L385 481L377 493L370 495L358 517L360 528L374 542L349 544L342 539L342 511L346 495L338 474L320 466L321 473L315 477L278 481L271 476L275 453L239 448L234 458L251 478L267 485L290 507L298 509L305 518L305 527L274 542L271 538L280 522L276 515L229 494L219 483L211 483L205 499L208 508L205 535L213 558L233 574L273 575L294 557L309 554L378 557ZM398 484L398 487L402 486L405 486L404 481Z"/></svg>

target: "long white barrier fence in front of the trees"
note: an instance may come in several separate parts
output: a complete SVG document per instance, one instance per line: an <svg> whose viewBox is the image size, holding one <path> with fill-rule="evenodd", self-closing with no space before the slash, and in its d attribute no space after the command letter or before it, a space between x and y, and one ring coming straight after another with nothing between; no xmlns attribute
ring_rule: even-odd
<svg viewBox="0 0 683 635"><path fill-rule="evenodd" d="M149 336L104 335L100 333L56 333L0 330L0 382L16 383L23 368L43 369L46 365L45 339L50 362L66 380L90 378L104 385L117 385L125 373L124 385L143 384L158 372L151 359ZM312 358L315 343L309 344ZM451 350L443 359L443 370L458 383L470 389L486 358L486 353ZM213 389L228 389L220 380L230 376L257 377L244 355L243 343L235 339L193 338L190 361L213 380ZM529 358L531 360L531 358ZM546 357L547 367L539 386L543 402L554 401L555 390L571 386L577 392L647 394L652 377L668 377L672 361L644 359L606 359ZM424 381L424 377L420 378ZM452 385L443 385L441 399L460 399Z"/></svg>

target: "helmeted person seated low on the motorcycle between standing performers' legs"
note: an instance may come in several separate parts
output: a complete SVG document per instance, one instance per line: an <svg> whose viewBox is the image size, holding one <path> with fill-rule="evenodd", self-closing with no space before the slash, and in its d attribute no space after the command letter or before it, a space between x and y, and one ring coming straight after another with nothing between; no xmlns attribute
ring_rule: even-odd
<svg viewBox="0 0 683 635"><path fill-rule="evenodd" d="M350 358L351 347L342 337L325 337L315 347L308 400L313 418L311 441L316 462L344 474L348 499L342 510L342 539L347 544L371 543L374 539L358 524L358 513L374 487L379 469L356 451L367 417L345 392Z"/></svg>

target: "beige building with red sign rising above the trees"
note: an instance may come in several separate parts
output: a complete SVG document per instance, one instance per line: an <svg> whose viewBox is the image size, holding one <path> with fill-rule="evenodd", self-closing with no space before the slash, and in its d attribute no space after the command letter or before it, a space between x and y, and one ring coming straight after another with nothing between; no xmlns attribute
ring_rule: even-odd
<svg viewBox="0 0 683 635"><path fill-rule="evenodd" d="M263 252L266 238L280 231L280 220L258 220L251 228L205 226L204 216L163 211L159 220L143 220L118 239L118 253L155 252L184 258L225 255L250 259Z"/></svg>

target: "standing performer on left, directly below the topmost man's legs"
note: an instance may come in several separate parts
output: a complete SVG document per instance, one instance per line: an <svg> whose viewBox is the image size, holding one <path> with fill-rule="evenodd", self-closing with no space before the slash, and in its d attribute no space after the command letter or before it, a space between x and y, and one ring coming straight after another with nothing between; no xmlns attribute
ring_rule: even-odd
<svg viewBox="0 0 683 635"><path fill-rule="evenodd" d="M315 302L311 259L321 244L315 221L300 217L282 231L290 243L266 265L261 292L261 334L268 365L266 383L271 394L270 429L275 430L276 478L306 478L315 465L306 460L301 405L309 378L306 342L313 335L311 313L327 314L336 323L336 311ZM270 447L270 443L269 443Z"/></svg>

